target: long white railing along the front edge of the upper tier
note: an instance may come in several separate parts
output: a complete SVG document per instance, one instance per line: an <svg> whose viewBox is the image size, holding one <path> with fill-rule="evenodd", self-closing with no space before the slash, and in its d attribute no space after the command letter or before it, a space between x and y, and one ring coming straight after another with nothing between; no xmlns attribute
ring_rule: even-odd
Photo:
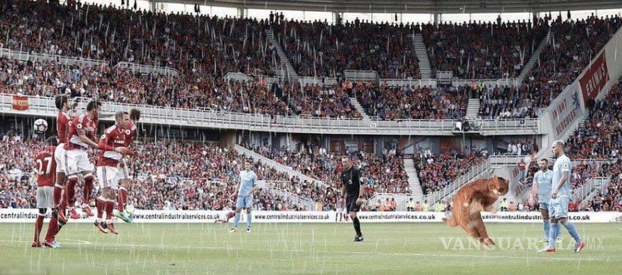
<svg viewBox="0 0 622 275"><path fill-rule="evenodd" d="M0 94L1 113L56 116L54 98L27 96L28 111L17 111L12 109L12 96L15 95ZM87 100L80 100L78 109L84 109L86 104ZM309 118L302 116L271 117L264 114L220 112L209 109L182 109L110 102L105 102L102 105L105 113L127 111L132 107L141 109L141 118L145 123L265 132L452 136L453 126L456 123L456 121L449 120L383 121L380 119ZM103 120L112 121L112 118L103 118ZM502 132L501 129L505 129L511 134L521 131L530 133L535 131L533 128L538 128L536 119L527 120L526 123L511 123L510 121L483 120L481 123L489 124L491 127L496 123L500 128L497 131Z"/></svg>

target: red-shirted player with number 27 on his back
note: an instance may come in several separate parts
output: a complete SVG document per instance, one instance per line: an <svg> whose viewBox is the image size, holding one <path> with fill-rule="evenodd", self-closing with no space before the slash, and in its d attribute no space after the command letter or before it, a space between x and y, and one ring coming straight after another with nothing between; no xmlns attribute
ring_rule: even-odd
<svg viewBox="0 0 622 275"><path fill-rule="evenodd" d="M33 164L37 171L37 209L39 209L39 215L37 222L35 222L35 240L33 240L33 247L42 247L39 236L41 229L43 228L43 220L45 213L48 209L54 209L54 184L55 184L55 171L56 161L54 159L54 152L58 140L51 137L47 141L47 147L40 150L37 157L35 157ZM45 236L44 245L46 247L58 248L60 245L54 240L54 236L58 230L58 224L56 216L52 215L52 220L48 225L48 232Z"/></svg>

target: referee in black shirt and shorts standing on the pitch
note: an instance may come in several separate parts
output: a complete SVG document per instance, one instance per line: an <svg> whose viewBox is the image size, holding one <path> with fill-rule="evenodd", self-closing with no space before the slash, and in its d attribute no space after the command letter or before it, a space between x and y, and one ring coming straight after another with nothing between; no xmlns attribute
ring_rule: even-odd
<svg viewBox="0 0 622 275"><path fill-rule="evenodd" d="M343 165L343 172L341 172L341 194L345 195L345 209L352 218L354 224L354 230L356 231L356 237L354 242L363 241L363 233L361 233L361 222L358 221L356 212L361 209L363 204L363 192L365 190L361 188L361 170L356 167L352 167L352 161L348 156L341 157L341 164Z"/></svg>

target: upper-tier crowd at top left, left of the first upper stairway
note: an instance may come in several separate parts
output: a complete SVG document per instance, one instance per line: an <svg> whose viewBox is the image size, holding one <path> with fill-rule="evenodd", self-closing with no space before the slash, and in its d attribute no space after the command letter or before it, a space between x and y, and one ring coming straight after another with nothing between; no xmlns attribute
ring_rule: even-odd
<svg viewBox="0 0 622 275"><path fill-rule="evenodd" d="M10 30L2 46L31 53L135 62L184 74L229 72L271 76L278 67L264 20L166 14L77 3L12 1L0 24ZM5 38L5 37L3 37Z"/></svg>

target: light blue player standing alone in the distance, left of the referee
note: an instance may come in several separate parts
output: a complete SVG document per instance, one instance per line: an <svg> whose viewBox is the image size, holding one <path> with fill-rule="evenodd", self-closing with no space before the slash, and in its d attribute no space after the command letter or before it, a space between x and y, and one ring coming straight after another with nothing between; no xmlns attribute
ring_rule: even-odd
<svg viewBox="0 0 622 275"><path fill-rule="evenodd" d="M245 169L240 171L240 182L236 188L238 201L236 202L236 213L233 228L230 232L238 230L240 223L240 212L246 209L246 232L250 233L250 225L252 224L252 194L259 189L257 185L257 175L252 171L252 161L246 161ZM235 196L236 193L233 195Z"/></svg>

